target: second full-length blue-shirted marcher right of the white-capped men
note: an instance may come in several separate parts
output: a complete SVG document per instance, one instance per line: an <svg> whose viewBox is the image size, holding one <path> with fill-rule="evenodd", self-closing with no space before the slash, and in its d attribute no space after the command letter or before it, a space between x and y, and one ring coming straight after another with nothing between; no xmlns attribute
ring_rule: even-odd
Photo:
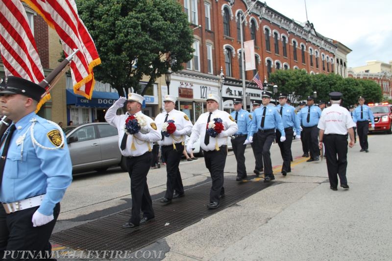
<svg viewBox="0 0 392 261"><path fill-rule="evenodd" d="M275 179L272 172L270 148L275 139L275 129L281 133L280 141L286 140L286 134L283 128L282 117L278 111L270 105L271 93L264 91L262 93L263 108L254 111L253 133L257 132L259 146L263 148L264 160L264 182Z"/></svg>

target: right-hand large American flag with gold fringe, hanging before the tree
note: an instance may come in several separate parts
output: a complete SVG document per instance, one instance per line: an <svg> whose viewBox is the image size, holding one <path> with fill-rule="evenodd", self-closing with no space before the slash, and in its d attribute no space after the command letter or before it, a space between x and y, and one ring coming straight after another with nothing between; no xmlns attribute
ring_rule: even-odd
<svg viewBox="0 0 392 261"><path fill-rule="evenodd" d="M91 98L93 68L101 63L94 41L79 18L74 0L23 0L39 13L60 36L65 56L79 49L71 62L73 92Z"/></svg>

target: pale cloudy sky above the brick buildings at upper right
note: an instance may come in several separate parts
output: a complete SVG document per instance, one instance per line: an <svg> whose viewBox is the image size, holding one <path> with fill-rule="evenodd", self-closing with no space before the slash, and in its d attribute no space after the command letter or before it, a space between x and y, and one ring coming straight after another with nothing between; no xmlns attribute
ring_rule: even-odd
<svg viewBox="0 0 392 261"><path fill-rule="evenodd" d="M350 48L347 67L392 61L391 0L269 0L267 5L296 22L309 20L316 32Z"/></svg>

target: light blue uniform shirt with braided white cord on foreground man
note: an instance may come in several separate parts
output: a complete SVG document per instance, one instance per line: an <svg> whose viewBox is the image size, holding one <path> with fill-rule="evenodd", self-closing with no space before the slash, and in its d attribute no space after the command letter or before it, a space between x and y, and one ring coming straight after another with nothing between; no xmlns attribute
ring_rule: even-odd
<svg viewBox="0 0 392 261"><path fill-rule="evenodd" d="M34 112L20 119L15 124L16 130L8 147L0 188L0 202L12 203L46 194L38 211L44 215L51 215L54 206L61 201L65 190L71 184L71 157L67 142L58 149L45 149L37 144L33 145L29 128L33 118L37 120L33 129L35 140L45 147L57 146L49 139L50 134L59 133L60 130L56 125L37 116ZM24 134L26 136L22 153L20 141ZM58 135L55 139L61 140Z"/></svg>

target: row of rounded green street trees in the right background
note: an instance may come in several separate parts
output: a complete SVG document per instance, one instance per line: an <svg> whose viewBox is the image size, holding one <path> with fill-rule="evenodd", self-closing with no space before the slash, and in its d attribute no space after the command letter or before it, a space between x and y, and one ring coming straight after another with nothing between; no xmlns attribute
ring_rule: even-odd
<svg viewBox="0 0 392 261"><path fill-rule="evenodd" d="M366 102L380 102L383 99L380 86L371 80L343 78L334 73L308 74L302 70L277 70L270 74L270 83L278 85L279 93L286 93L296 103L317 92L319 100L329 101L330 92L343 94L343 106L358 103L358 96ZM272 91L272 90L269 90Z"/></svg>

